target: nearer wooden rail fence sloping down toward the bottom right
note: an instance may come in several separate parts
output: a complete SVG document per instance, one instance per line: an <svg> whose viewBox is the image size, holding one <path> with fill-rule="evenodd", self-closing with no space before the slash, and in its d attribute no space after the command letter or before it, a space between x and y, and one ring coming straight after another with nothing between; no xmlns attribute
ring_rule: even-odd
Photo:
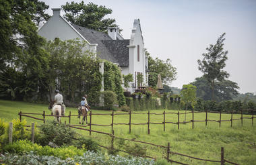
<svg viewBox="0 0 256 165"><path fill-rule="evenodd" d="M142 142L142 141L139 141L139 140L129 140L129 139L126 139L126 138L117 137L117 136L114 135L114 131L112 133L106 133L106 132L95 131L95 130L92 130L92 129L86 129L86 128L82 128L82 127L75 127L73 125L67 125L67 126L69 126L71 128L74 128L74 129L80 129L80 130L84 130L84 131L90 131L90 132L95 132L95 133L101 133L101 134L104 134L104 135L109 135L110 137L112 137L110 148L107 147L107 146L99 145L100 147L106 148L107 150L118 150L119 152L125 152L127 154L131 154L131 153L125 151L125 150L119 150L119 149L116 149L114 147L114 140L115 139L121 139L121 140L127 140L129 142L135 142L135 143L139 143L139 144L146 144L146 145L156 146L156 147L162 148L163 150L166 150L166 160L168 162L171 162L171 163L174 162L174 163L177 163L177 164L187 165L183 162L178 162L176 160L170 159L170 154L187 157L187 158L191 158L191 159L194 159L194 160L205 161L205 162L216 162L216 163L220 163L221 165L224 165L225 162L227 162L229 164L238 165L234 162L230 162L230 161L224 159L224 148L223 147L220 150L220 160L209 160L209 159L197 158L197 157L194 157L194 156L188 156L188 155L181 154L181 153L178 153L178 152L171 152L170 151L170 143L168 143L167 146L162 146L162 145L152 144L152 143L149 143L149 142ZM12 132L13 132L13 123L9 123L9 144L12 143ZM31 125L31 140L34 143L34 123L32 123L32 125ZM152 158L152 159L156 160L156 158L154 158L152 156L143 156L143 157Z"/></svg>

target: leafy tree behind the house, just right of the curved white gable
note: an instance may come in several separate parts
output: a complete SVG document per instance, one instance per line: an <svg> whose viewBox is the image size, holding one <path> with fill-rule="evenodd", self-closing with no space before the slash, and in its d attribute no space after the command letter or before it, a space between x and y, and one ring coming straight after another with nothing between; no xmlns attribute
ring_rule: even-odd
<svg viewBox="0 0 256 165"><path fill-rule="evenodd" d="M177 68L170 64L171 60L160 60L159 58L153 59L150 54L146 51L148 56L148 69L150 70L148 77L148 85L151 87L156 87L158 80L158 74L161 74L162 83L170 84L172 80L176 79Z"/></svg>

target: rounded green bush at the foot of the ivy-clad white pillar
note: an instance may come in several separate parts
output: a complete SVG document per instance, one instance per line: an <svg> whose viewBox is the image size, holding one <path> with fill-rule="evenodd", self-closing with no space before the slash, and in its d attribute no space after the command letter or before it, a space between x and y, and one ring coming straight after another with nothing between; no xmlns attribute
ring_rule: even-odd
<svg viewBox="0 0 256 165"><path fill-rule="evenodd" d="M114 109L114 106L118 104L117 95L113 91L104 91L104 108L105 109Z"/></svg>

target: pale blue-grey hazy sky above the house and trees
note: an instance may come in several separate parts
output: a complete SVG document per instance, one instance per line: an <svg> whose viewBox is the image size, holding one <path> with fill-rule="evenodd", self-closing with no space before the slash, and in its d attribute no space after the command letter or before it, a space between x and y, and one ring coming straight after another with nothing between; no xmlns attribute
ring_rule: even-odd
<svg viewBox="0 0 256 165"><path fill-rule="evenodd" d="M51 8L65 5L63 0L41 0ZM75 2L81 2L73 0ZM238 83L240 93L256 93L256 1L255 0L92 0L113 9L125 39L131 37L133 20L139 19L145 48L153 58L172 60L177 80L171 87L182 88L196 77L198 59L207 46L215 44L224 32L224 50L228 50L226 70Z"/></svg>

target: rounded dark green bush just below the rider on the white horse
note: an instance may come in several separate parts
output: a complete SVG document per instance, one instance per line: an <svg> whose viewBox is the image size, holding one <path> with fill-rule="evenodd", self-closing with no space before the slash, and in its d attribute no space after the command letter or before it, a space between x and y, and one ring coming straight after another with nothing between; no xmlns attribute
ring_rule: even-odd
<svg viewBox="0 0 256 165"><path fill-rule="evenodd" d="M42 135L40 135L38 143L42 146L48 145L49 142L53 142L57 146L70 145L75 137L75 131L63 123L57 123L57 121L41 125L40 131L42 131Z"/></svg>

